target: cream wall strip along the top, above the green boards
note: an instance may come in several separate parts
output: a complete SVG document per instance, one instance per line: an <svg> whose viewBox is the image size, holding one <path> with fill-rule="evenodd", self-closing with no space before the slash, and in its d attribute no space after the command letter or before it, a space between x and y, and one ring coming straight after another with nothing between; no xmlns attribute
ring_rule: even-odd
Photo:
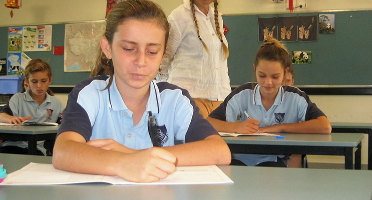
<svg viewBox="0 0 372 200"><path fill-rule="evenodd" d="M182 0L154 0L168 15ZM223 14L255 14L289 12L286 3L272 0L219 0ZM294 0L296 1L296 0ZM306 1L306 8L295 12L316 12L325 10L372 9L372 0L298 0ZM88 2L88 3L87 3ZM22 8L14 9L0 6L0 26L65 23L73 21L102 20L106 14L107 0L23 0ZM295 3L295 2L294 2Z"/></svg>

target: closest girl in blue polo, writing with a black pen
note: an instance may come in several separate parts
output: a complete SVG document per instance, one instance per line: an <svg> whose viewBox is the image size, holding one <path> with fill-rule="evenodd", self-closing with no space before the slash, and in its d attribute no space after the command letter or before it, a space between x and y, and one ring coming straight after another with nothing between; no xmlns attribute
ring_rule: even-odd
<svg viewBox="0 0 372 200"><path fill-rule="evenodd" d="M121 1L109 12L92 77L69 94L56 168L151 182L175 166L230 163L227 144L187 90L153 81L168 34L167 18L152 1ZM153 116L159 147L150 137Z"/></svg>

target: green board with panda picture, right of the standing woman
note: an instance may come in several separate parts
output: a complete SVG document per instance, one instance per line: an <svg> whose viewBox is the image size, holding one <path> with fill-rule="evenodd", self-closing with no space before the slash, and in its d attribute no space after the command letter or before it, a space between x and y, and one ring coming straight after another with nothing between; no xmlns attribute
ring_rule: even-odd
<svg viewBox="0 0 372 200"><path fill-rule="evenodd" d="M300 16L316 14L319 13L298 13ZM318 40L312 42L286 42L289 51L312 51L311 63L293 64L295 84L372 85L372 10L329 14L335 14L334 34L318 34ZM274 16L276 14L259 15ZM258 42L257 15L225 15L223 20L229 28L225 35L230 50L230 84L254 81L253 59L262 44Z"/></svg>

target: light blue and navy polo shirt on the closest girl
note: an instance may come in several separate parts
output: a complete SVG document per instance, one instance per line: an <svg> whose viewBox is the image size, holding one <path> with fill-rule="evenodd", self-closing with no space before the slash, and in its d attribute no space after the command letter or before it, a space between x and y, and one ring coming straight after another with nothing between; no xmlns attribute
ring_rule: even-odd
<svg viewBox="0 0 372 200"><path fill-rule="evenodd" d="M202 140L218 134L199 114L199 108L187 90L168 82L150 82L150 96L140 122L133 126L133 112L125 105L115 77L99 75L80 82L69 94L58 134L80 133L90 139L111 138L133 149L152 147L148 132L148 111L157 123L160 146ZM58 135L57 134L57 135Z"/></svg>

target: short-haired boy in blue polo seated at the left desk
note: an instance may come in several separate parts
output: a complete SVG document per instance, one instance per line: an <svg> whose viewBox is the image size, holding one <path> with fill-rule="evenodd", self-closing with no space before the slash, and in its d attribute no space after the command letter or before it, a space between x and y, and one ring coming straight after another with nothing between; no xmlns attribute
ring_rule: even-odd
<svg viewBox="0 0 372 200"><path fill-rule="evenodd" d="M39 122L60 122L63 105L59 98L51 96L47 90L52 83L51 65L42 59L32 59L25 67L25 82L29 85L24 93L12 96L9 103L0 111L0 122L21 124L31 119ZM48 146L53 146L50 141ZM1 143L1 142L0 142ZM26 141L4 141L0 152L27 154ZM38 141L38 154L47 155L44 141ZM48 149L51 153L53 149Z"/></svg>

